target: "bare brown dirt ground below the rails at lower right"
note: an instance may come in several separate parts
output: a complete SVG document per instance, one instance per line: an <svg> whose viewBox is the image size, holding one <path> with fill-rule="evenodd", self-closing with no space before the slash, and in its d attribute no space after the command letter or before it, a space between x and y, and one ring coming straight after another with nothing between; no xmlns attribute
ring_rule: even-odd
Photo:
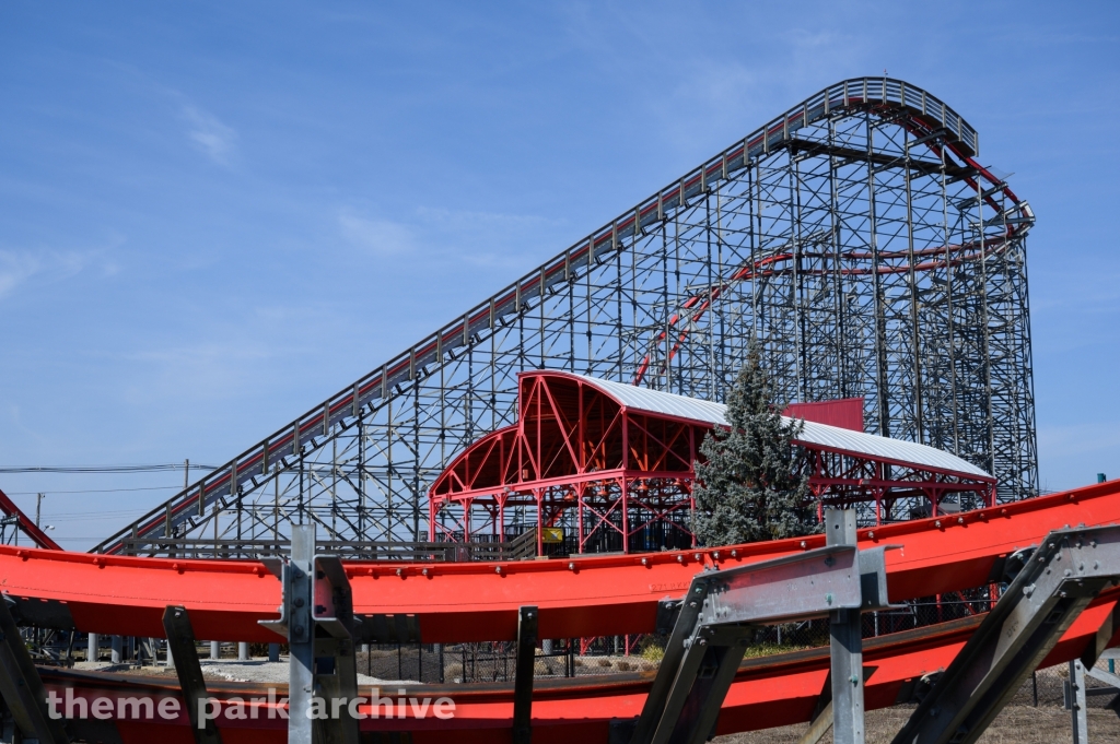
<svg viewBox="0 0 1120 744"><path fill-rule="evenodd" d="M897 706L871 710L865 719L868 744L889 744L914 710L913 706ZM717 744L796 744L808 724L783 726L748 734L719 736ZM1120 742L1120 718L1111 710L1089 708L1089 741ZM832 733L825 734L822 744L832 744ZM1064 744L1073 742L1070 712L1058 707L1009 705L980 737L980 744Z"/></svg>

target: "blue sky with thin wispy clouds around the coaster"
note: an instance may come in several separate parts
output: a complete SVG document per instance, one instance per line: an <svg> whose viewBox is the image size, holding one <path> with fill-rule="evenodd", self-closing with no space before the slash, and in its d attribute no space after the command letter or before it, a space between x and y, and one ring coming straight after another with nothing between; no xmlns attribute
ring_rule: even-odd
<svg viewBox="0 0 1120 744"><path fill-rule="evenodd" d="M887 69L1038 216L1043 486L1120 477L1118 41L1111 2L4 2L0 465L223 462ZM0 475L72 548L180 482Z"/></svg>

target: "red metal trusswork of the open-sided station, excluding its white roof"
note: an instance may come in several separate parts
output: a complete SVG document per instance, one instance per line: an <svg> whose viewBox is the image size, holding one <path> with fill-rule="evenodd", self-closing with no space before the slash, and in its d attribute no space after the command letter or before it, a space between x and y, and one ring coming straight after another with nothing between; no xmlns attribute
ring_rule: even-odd
<svg viewBox="0 0 1120 744"><path fill-rule="evenodd" d="M561 371L522 373L517 393L517 422L467 448L429 489L430 539L504 536L507 512L517 508L535 518L539 554L544 528L561 521L578 553L600 530L617 533L628 553L633 536L656 522L696 544L681 512L694 507L693 465L703 460L710 421L629 406L596 380ZM814 498L874 501L876 524L890 519L900 498L924 496L934 514L949 493L971 491L991 503L991 478L796 443Z"/></svg>

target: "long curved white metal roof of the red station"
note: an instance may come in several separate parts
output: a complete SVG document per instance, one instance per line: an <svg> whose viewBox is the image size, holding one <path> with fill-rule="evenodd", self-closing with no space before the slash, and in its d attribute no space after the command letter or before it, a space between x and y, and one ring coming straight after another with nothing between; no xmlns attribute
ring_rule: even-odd
<svg viewBox="0 0 1120 744"><path fill-rule="evenodd" d="M626 385L624 383L613 383L610 380L599 379L598 377L588 377L587 375L576 375L572 373L563 374L566 376L582 379L592 387L598 388L603 393L618 401L627 408L646 411L648 413L656 413L666 416L675 416L678 418L715 424L717 426L729 425L725 415L727 406L722 403L689 398L683 395L651 390L646 387L637 387L634 385ZM790 421L785 416L783 416L783 418ZM944 450L926 446L925 444L906 442L903 440L893 440L887 436L877 436L875 434L855 432L839 426L818 424L812 421L805 422L804 430L801 432L801 435L796 441L803 442L804 444L818 444L820 446L827 446L834 450L844 450L847 452L884 458L896 462L912 462L916 465L925 465L927 468L935 468L942 471L948 470L958 473L978 475L980 478L991 478L990 474L980 468L977 468L971 462L958 458L954 454L950 454Z"/></svg>

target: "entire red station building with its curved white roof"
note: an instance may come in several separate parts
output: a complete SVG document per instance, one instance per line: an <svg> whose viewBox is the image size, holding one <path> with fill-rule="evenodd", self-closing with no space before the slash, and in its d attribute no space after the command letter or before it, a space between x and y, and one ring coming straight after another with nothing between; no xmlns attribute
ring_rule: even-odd
<svg viewBox="0 0 1120 744"><path fill-rule="evenodd" d="M876 525L992 503L996 480L961 458L855 431L861 407L855 398L786 411L805 420L795 446L819 503L862 505ZM693 463L704 435L728 426L725 411L571 373L523 373L517 422L467 448L429 489L430 539L532 531L538 555L556 544L551 552L572 554L692 547Z"/></svg>

